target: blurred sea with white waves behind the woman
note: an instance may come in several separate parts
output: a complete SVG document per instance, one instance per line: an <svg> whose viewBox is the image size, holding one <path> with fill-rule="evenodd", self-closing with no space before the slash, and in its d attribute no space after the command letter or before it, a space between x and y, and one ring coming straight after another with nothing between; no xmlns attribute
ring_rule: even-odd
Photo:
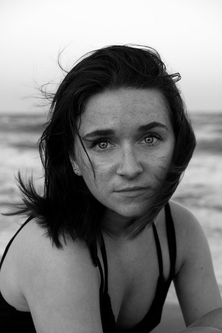
<svg viewBox="0 0 222 333"><path fill-rule="evenodd" d="M208 239L216 279L222 295L222 111L190 112L197 147L172 199L189 208ZM37 141L46 122L45 113L0 113L0 213L10 202L19 202L15 176L32 173L36 186L43 184ZM0 256L18 230L19 216L0 215ZM176 302L173 287L167 296Z"/></svg>

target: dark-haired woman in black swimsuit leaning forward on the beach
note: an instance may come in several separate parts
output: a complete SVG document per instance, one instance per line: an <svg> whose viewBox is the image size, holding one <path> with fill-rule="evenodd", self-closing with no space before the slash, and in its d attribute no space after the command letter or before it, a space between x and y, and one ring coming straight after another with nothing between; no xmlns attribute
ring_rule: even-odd
<svg viewBox="0 0 222 333"><path fill-rule="evenodd" d="M179 79L134 46L67 73L39 143L44 195L19 175L29 218L1 262L4 332L151 332L172 280L183 332L220 332L206 238L170 200L195 148Z"/></svg>

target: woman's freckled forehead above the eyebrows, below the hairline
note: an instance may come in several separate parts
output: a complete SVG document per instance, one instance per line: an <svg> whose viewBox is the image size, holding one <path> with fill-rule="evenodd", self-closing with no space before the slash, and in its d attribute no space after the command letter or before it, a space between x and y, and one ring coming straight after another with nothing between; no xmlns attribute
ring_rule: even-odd
<svg viewBox="0 0 222 333"><path fill-rule="evenodd" d="M160 122L170 127L163 94L153 89L122 88L90 97L81 114L79 131L80 135L104 127L132 131L136 126L150 122Z"/></svg>

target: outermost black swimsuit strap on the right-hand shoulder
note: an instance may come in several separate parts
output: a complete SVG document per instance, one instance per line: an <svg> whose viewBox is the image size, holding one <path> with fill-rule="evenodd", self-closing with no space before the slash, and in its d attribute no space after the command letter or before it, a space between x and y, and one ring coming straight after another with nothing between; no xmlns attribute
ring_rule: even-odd
<svg viewBox="0 0 222 333"><path fill-rule="evenodd" d="M165 216L166 216L166 232L170 255L170 277L175 275L175 263L176 263L176 234L171 215L169 202L165 205Z"/></svg>

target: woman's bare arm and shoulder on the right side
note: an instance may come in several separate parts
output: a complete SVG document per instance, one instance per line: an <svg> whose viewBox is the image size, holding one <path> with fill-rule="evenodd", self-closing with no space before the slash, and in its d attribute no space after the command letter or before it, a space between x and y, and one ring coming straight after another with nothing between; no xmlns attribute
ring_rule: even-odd
<svg viewBox="0 0 222 333"><path fill-rule="evenodd" d="M189 210L174 202L171 207L177 221L177 258L182 258L174 285L185 323L190 332L200 326L208 327L207 332L213 328L222 330L222 300L206 236Z"/></svg>

